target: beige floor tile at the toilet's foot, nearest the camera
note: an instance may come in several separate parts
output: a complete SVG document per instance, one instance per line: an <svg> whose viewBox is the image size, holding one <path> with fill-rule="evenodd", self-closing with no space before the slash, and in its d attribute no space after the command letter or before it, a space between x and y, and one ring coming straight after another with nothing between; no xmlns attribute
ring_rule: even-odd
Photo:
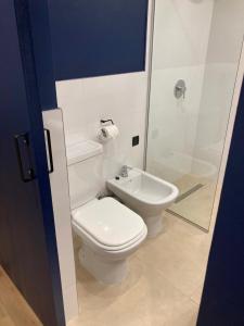
<svg viewBox="0 0 244 326"><path fill-rule="evenodd" d="M82 273L89 280L86 285L79 283L84 313L68 326L195 325L197 304L136 256L130 260L127 280L119 286L100 285L80 268Z"/></svg>

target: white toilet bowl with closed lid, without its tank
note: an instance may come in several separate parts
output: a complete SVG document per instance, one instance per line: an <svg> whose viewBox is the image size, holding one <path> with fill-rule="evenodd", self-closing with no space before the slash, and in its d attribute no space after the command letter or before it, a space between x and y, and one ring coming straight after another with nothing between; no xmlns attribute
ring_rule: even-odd
<svg viewBox="0 0 244 326"><path fill-rule="evenodd" d="M92 200L74 210L72 217L84 243L81 265L104 284L120 283L127 275L127 258L146 238L143 220L113 198Z"/></svg>

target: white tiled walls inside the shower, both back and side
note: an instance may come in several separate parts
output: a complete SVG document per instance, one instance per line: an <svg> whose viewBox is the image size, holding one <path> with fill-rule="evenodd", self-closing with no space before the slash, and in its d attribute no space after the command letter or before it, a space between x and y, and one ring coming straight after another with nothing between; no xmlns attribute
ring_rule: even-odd
<svg viewBox="0 0 244 326"><path fill-rule="evenodd" d="M155 161L163 160L178 170L169 155L182 152L218 171L243 41L244 2L155 3L147 168L153 172ZM179 101L174 97L178 79L188 88ZM166 170L163 176L172 180Z"/></svg>

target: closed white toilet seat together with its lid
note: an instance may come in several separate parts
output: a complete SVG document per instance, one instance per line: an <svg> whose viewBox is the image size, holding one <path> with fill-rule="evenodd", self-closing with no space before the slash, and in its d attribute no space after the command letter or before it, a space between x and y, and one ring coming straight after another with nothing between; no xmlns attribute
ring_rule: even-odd
<svg viewBox="0 0 244 326"><path fill-rule="evenodd" d="M72 217L75 231L103 253L128 251L147 234L143 220L113 198L85 204L73 211Z"/></svg>

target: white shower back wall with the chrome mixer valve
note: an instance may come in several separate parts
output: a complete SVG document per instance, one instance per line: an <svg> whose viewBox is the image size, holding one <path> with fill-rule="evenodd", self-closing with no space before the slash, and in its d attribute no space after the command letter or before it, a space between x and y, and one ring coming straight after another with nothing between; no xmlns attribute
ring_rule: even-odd
<svg viewBox="0 0 244 326"><path fill-rule="evenodd" d="M156 0L155 5L147 170L175 181L192 166L214 0ZM185 99L177 100L179 79L188 89ZM179 152L188 155L181 171Z"/></svg>

